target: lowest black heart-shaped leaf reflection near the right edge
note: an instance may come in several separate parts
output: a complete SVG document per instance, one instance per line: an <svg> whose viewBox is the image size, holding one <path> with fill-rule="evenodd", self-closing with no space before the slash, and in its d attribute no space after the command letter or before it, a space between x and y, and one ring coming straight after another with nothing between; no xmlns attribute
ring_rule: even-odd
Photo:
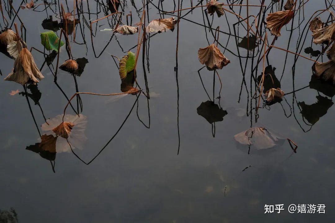
<svg viewBox="0 0 335 223"><path fill-rule="evenodd" d="M319 119L327 114L328 109L333 106L333 101L327 97L321 95L316 96L317 102L312 105L306 105L305 102L299 102L298 105L301 107L301 114L306 120L314 125Z"/></svg>

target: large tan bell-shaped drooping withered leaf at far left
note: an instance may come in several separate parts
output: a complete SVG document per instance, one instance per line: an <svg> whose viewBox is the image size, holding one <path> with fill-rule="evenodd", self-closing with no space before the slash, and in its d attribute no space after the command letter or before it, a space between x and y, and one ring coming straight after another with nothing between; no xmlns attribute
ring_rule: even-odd
<svg viewBox="0 0 335 223"><path fill-rule="evenodd" d="M27 83L36 84L43 78L29 50L23 48L14 62L12 72L4 80L25 85Z"/></svg>

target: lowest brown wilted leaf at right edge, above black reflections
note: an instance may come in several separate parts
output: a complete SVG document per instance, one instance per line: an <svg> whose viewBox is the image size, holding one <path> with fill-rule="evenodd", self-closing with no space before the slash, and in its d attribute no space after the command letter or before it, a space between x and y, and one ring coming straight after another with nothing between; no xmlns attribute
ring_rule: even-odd
<svg viewBox="0 0 335 223"><path fill-rule="evenodd" d="M330 81L335 85L335 63L330 60L326 63L316 63L313 67L313 74L317 78Z"/></svg>

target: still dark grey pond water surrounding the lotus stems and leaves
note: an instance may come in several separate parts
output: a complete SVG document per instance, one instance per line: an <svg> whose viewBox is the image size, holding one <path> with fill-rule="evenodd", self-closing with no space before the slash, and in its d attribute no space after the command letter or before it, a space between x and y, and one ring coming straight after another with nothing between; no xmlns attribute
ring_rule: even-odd
<svg viewBox="0 0 335 223"><path fill-rule="evenodd" d="M9 18L10 5L1 2L10 25L15 13L12 11ZM35 47L43 52L40 33L48 31L45 28L52 24L46 19L52 16L54 21L60 21L59 4L64 5L65 12L73 12L73 2L34 2L34 10L20 9L18 15L26 29L23 39L28 49ZM127 24L126 15L130 12L132 25L139 22L143 2L120 2L122 24ZM206 1L181 2L182 8L206 4ZM265 16L280 8L282 1L274 2L265 1ZM43 3L51 4L39 5ZM21 4L25 5L14 1L13 8L18 10ZM260 1L249 4L260 5ZM308 22L316 10L325 9L327 4L307 2L304 13L300 8L294 16L293 30L289 22L274 45L293 52L298 46L298 53L302 49L300 54L308 58L311 54L305 48L322 51L321 45L312 43ZM247 47L240 43L247 42L246 23L234 26L239 19L227 12L220 18L215 13L213 21L208 15L209 22L206 11L202 11L206 8L181 12L178 73L175 71L177 26L173 31L146 34L145 54L143 57L142 44L136 72L139 86L145 95L149 93L150 99L143 93L81 94L71 101L73 108L69 106L66 110L70 119L76 117L75 112L81 114L68 138L75 154L61 137L56 141L56 154L34 152L35 143L41 141L40 134L51 134L51 129L61 123L64 107L75 92L121 92L119 63L111 55L121 59L128 50L136 54L138 33L99 31L115 28L117 16L92 23L95 56L89 24L111 13L106 6L105 0L78 1L80 23L76 25L75 42L73 34L69 34L69 41L73 58L84 58L81 62L85 67L80 75L58 69L55 83L57 57L50 65L45 63L43 53L32 49L37 67L43 66L41 72L45 78L37 86L27 86L27 93L18 83L0 81L0 218L13 208L19 222L331 222L334 219L335 147L331 120L335 118L332 101L335 88L312 78L313 61L297 57L294 62L294 54L272 48L265 60L266 73L280 81L281 90L288 94L271 105L261 99L256 113L259 94L254 79L262 76L264 48L259 42L253 59L253 51L248 54ZM159 14L161 9L177 10L178 1L148 1L146 24L163 16L177 18L177 13ZM247 17L246 7L234 6L229 10ZM249 8L249 15L258 13L259 7ZM329 12L320 17L326 22ZM130 24L130 16L128 19ZM14 21L21 33L20 21L17 17ZM256 30L253 21L250 17L252 29ZM5 28L3 21L0 24ZM217 75L203 68L198 59L199 48L214 42L212 32L204 27L209 24L213 34L219 26L218 48L230 60L222 70L217 70L221 91ZM264 38L262 19L258 26ZM58 30L57 36L60 33ZM274 36L269 30L267 33L271 44ZM250 39L252 47L254 39L252 36ZM65 41L64 36L62 40ZM48 50L46 53L49 54ZM13 69L14 60L4 54L0 58L5 78ZM59 65L67 59L64 45ZM252 72L258 59L258 69ZM318 61L328 61L326 53ZM216 105L210 102L213 74ZM10 94L16 90L19 93ZM284 140L268 149L241 145L234 140L236 134L258 126L270 129ZM296 151L286 138L297 144ZM95 156L88 165L84 163ZM266 204L284 204L285 210L264 214ZM324 204L325 214L290 214L287 210L290 204Z"/></svg>

